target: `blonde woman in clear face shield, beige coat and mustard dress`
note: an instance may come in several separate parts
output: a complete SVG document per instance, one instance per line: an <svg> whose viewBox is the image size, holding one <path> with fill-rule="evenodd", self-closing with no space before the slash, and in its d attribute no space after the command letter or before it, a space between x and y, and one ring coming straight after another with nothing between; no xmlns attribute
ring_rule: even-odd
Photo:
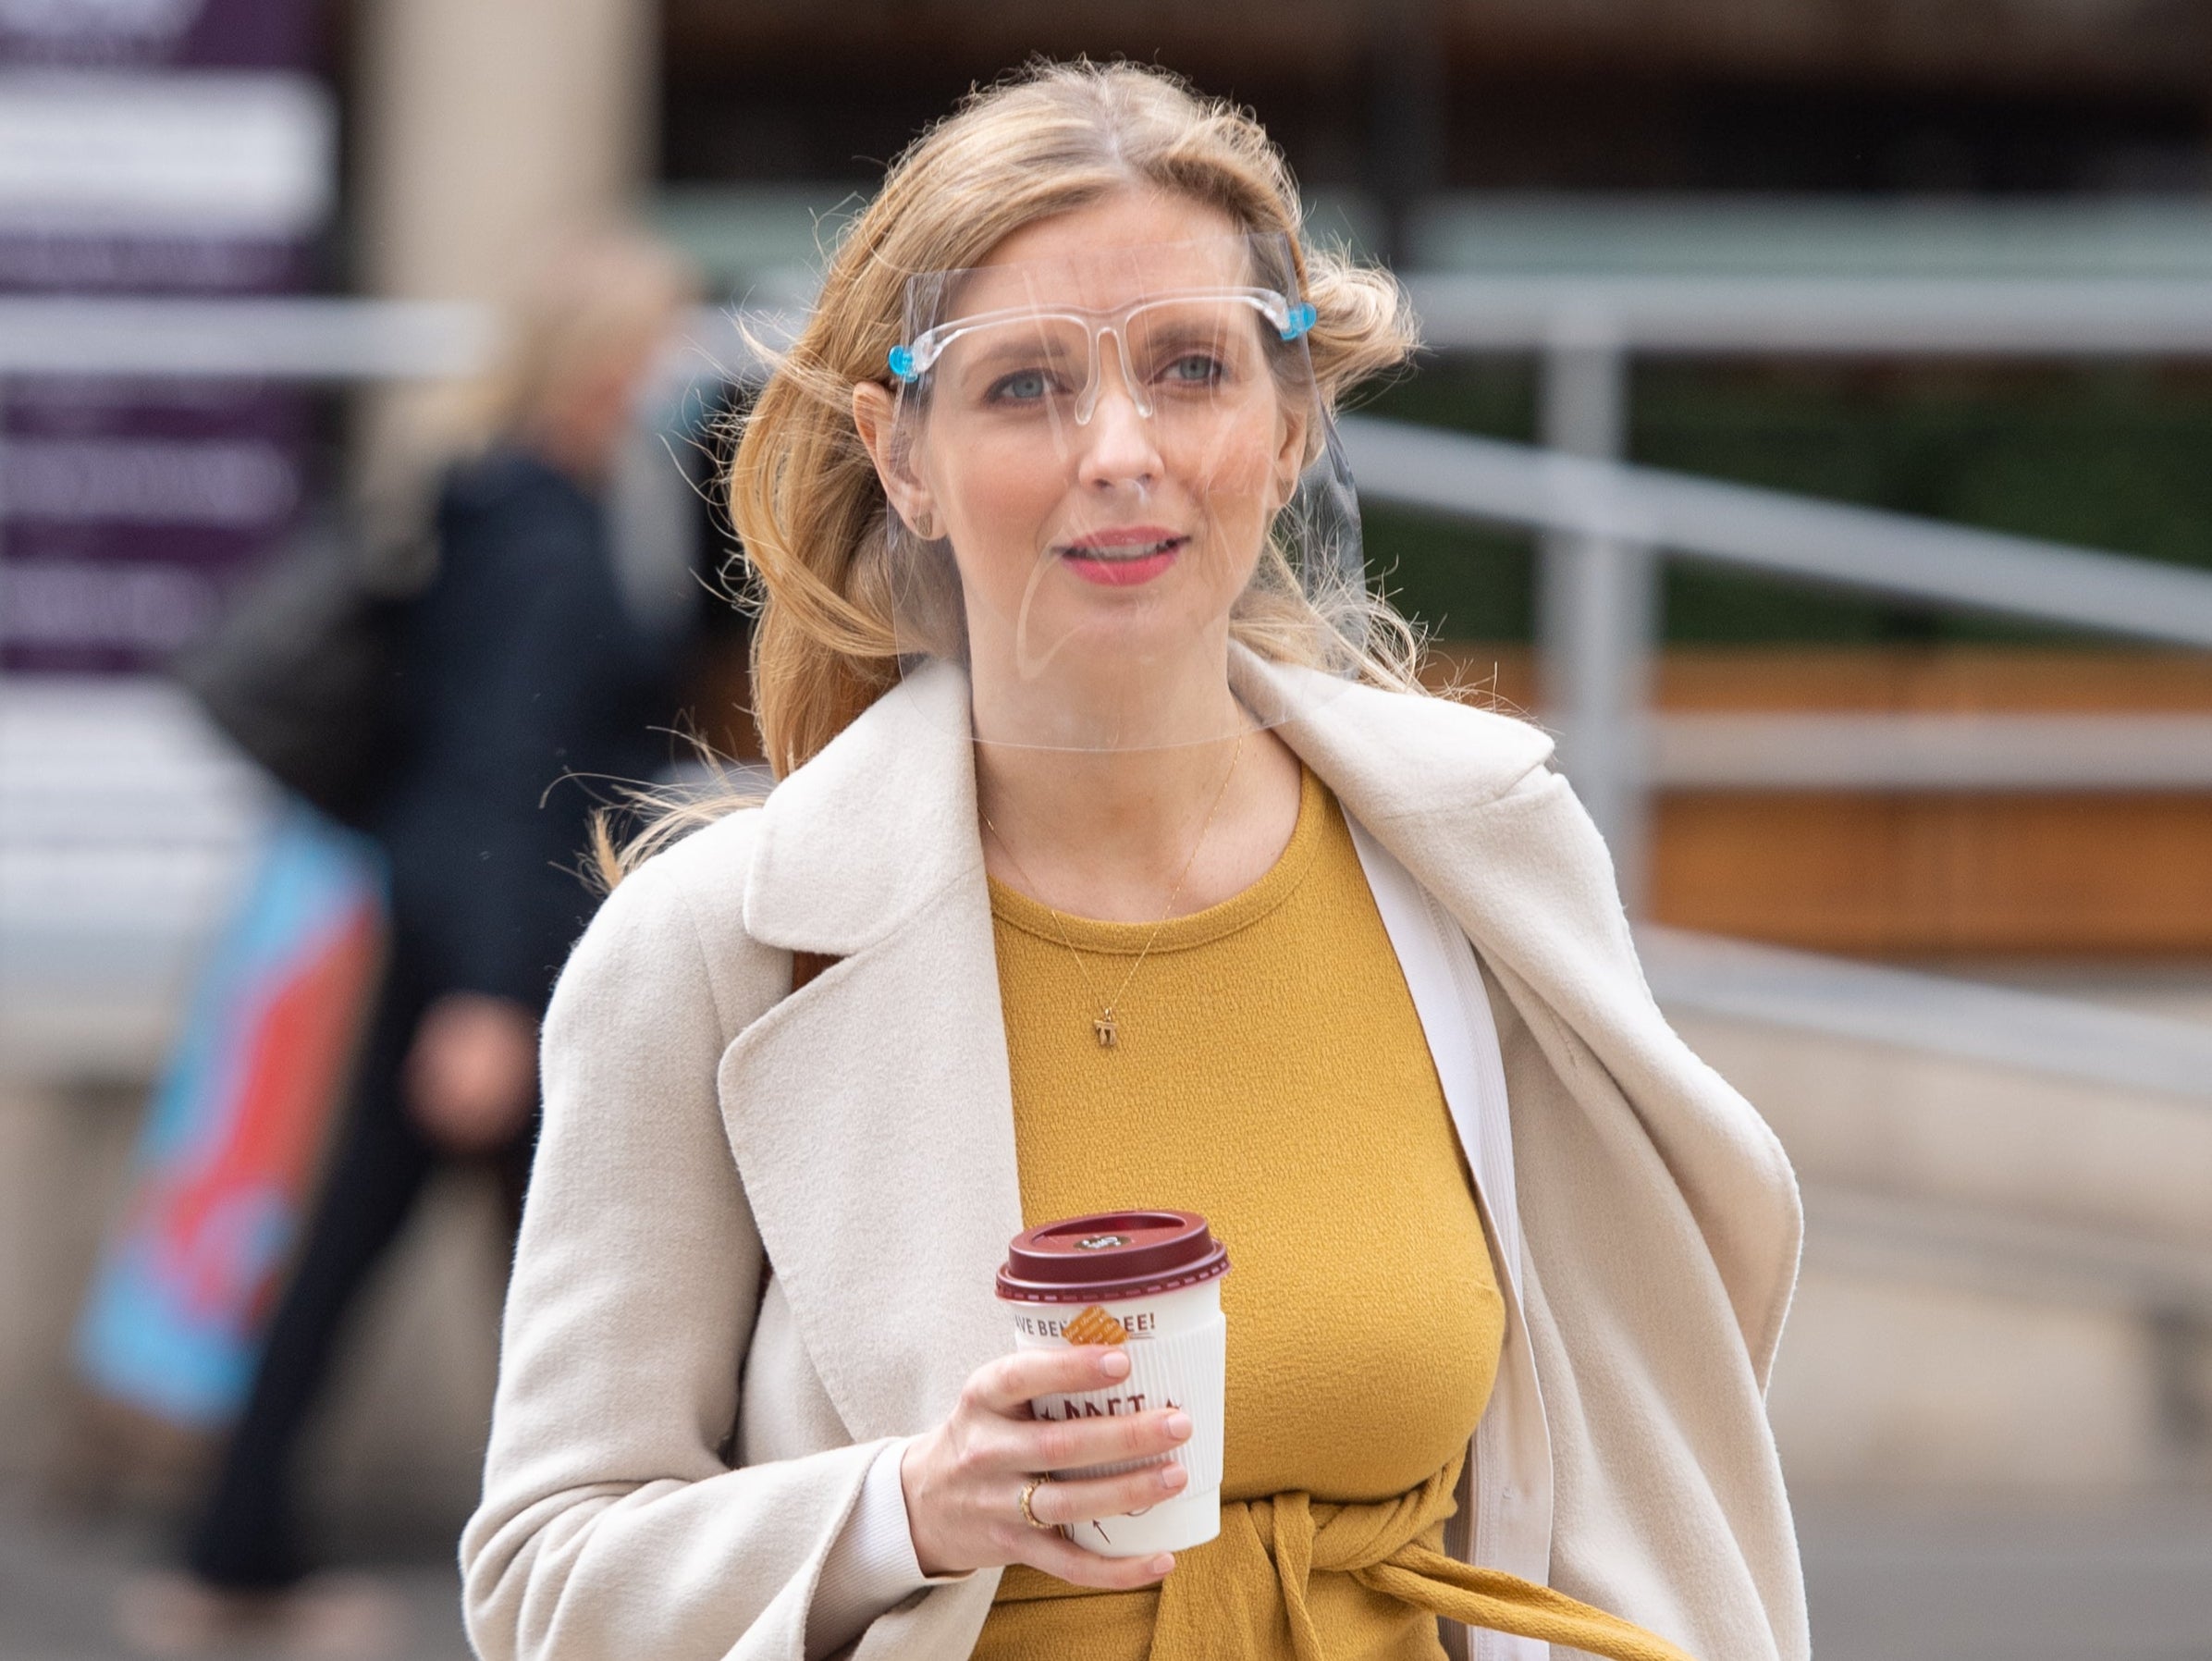
<svg viewBox="0 0 2212 1661"><path fill-rule="evenodd" d="M1790 1168L1548 741L1420 697L1367 602L1327 416L1405 305L1296 228L1248 117L1084 64L832 259L732 476L781 783L637 865L549 1013L482 1654L1805 1654ZM1124 1362L1004 1354L991 1292L1121 1205L1234 1258L1179 1559L1055 1533L1172 1462L1048 1473L1188 1418L1031 1420Z"/></svg>

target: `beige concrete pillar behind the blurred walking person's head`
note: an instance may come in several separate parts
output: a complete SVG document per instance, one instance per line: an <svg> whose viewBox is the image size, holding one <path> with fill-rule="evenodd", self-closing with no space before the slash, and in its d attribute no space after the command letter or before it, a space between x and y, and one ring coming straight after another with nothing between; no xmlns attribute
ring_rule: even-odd
<svg viewBox="0 0 2212 1661"><path fill-rule="evenodd" d="M367 0L354 88L356 274L369 294L504 301L575 226L653 173L659 7L641 0ZM394 487L469 398L372 400L363 482Z"/></svg>

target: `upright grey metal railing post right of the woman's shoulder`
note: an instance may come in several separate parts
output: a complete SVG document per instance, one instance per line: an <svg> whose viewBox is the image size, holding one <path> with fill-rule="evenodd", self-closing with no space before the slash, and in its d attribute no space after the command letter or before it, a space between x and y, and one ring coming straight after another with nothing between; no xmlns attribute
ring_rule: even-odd
<svg viewBox="0 0 2212 1661"><path fill-rule="evenodd" d="M1628 354L1606 318L1562 318L1542 358L1540 442L1619 460L1628 438ZM1646 708L1659 628L1652 549L1606 535L1537 540L1537 675L1559 761L1613 849L1630 916L1650 856Z"/></svg>

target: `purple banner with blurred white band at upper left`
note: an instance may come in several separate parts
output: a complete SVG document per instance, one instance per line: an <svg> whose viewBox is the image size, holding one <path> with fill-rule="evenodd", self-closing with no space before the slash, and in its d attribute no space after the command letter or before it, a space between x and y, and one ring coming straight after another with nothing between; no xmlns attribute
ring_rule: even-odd
<svg viewBox="0 0 2212 1661"><path fill-rule="evenodd" d="M0 294L312 283L334 102L316 0L0 4ZM312 394L0 380L0 668L139 672L299 522Z"/></svg>

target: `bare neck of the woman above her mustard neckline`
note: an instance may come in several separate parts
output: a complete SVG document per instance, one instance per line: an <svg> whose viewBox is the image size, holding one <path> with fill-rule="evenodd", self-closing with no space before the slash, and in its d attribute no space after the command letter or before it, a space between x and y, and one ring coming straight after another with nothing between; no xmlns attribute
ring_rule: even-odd
<svg viewBox="0 0 2212 1661"><path fill-rule="evenodd" d="M1298 759L1267 732L1241 750L1234 734L1161 750L978 743L975 794L1000 882L1075 916L1155 922L1267 871L1298 818Z"/></svg>

